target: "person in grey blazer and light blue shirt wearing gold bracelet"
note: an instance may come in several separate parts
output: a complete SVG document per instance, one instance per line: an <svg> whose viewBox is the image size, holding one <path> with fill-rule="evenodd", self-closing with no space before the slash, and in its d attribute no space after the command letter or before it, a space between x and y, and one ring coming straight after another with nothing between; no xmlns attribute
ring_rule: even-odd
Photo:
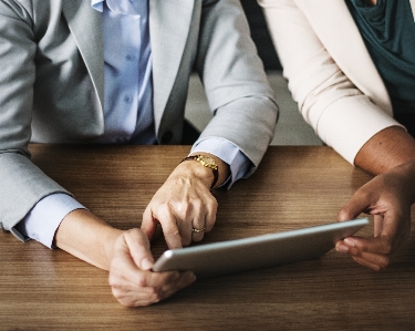
<svg viewBox="0 0 415 331"><path fill-rule="evenodd" d="M210 189L256 169L277 122L239 1L1 0L0 68L0 227L108 270L125 306L191 283L149 271L148 239L160 224L169 248L201 240ZM193 70L214 116L142 229L111 227L31 163L30 142L180 144Z"/></svg>

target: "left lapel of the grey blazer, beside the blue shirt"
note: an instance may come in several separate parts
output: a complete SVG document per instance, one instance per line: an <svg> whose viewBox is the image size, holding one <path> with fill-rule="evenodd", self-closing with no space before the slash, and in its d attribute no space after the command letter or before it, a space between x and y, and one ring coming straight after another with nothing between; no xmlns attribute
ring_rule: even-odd
<svg viewBox="0 0 415 331"><path fill-rule="evenodd" d="M101 110L104 107L104 43L102 39L102 14L91 8L91 1L63 2L63 15L73 34L80 53L90 72Z"/></svg>

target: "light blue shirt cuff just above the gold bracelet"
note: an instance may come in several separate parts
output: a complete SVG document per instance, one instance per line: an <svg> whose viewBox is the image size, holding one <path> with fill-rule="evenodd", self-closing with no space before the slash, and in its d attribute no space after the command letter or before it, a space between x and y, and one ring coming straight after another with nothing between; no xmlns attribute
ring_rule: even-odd
<svg viewBox="0 0 415 331"><path fill-rule="evenodd" d="M222 138L207 138L193 146L190 153L205 152L219 157L230 166L230 175L221 186L228 189L242 178L251 166L251 161L231 142Z"/></svg>

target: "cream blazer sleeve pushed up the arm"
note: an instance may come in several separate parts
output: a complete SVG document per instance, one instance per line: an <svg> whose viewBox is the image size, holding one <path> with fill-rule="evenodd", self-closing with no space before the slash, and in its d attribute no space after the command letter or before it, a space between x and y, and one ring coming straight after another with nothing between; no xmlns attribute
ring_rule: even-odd
<svg viewBox="0 0 415 331"><path fill-rule="evenodd" d="M373 135L400 124L343 73L295 1L258 2L300 113L326 145L353 164Z"/></svg>

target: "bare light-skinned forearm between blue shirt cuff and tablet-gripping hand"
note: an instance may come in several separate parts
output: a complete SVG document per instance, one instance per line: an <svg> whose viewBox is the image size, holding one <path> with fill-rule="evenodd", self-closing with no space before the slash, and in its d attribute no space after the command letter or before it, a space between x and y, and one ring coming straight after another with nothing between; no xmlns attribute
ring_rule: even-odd
<svg viewBox="0 0 415 331"><path fill-rule="evenodd" d="M101 269L110 270L115 240L122 230L111 227L92 213L70 213L55 234L54 245Z"/></svg>

